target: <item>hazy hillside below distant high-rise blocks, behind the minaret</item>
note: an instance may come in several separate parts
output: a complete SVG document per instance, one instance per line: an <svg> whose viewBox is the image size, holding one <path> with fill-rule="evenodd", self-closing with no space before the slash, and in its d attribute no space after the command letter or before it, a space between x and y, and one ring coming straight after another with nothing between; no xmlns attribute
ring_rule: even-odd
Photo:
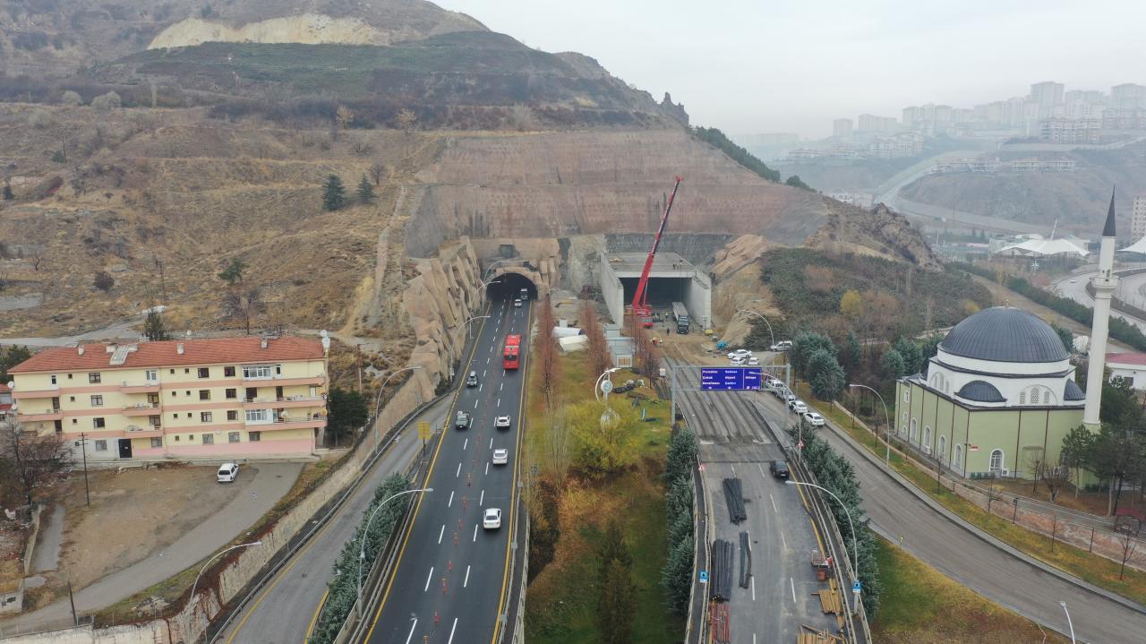
<svg viewBox="0 0 1146 644"><path fill-rule="evenodd" d="M1008 154L999 158L1006 162L1031 156ZM933 174L909 183L900 195L942 207L1037 223L1047 229L1058 221L1060 230L1093 237L1106 217L1110 187L1117 184L1118 227L1129 231L1131 199L1146 194L1146 143L1039 158L1063 157L1077 163L1075 172Z"/></svg>

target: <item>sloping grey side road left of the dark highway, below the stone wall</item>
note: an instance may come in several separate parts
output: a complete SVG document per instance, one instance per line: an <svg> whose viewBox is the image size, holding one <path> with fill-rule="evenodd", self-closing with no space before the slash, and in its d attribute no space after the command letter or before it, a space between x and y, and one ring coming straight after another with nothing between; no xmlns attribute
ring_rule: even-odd
<svg viewBox="0 0 1146 644"><path fill-rule="evenodd" d="M419 421L440 427L453 396L425 410ZM374 492L386 477L403 472L422 449L417 425L410 423L386 453L375 462L359 487L333 517L272 579L253 602L236 615L215 642L226 644L288 644L306 638L317 616L327 584L333 576L333 559L353 539Z"/></svg>

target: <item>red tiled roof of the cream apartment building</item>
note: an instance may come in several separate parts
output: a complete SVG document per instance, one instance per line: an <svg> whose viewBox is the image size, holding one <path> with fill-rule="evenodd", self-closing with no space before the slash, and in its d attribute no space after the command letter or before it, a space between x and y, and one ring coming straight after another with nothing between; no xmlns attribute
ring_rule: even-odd
<svg viewBox="0 0 1146 644"><path fill-rule="evenodd" d="M183 345L182 354L178 351L179 345ZM105 343L81 346L84 347L83 355L79 354L77 347L53 347L41 351L13 367L8 372L99 371L173 364L220 364L322 358L322 344L319 340L293 336L272 338L267 340L267 348L261 347L258 337L139 343L139 350L128 353L123 364L111 364L112 354L108 352L110 345Z"/></svg>

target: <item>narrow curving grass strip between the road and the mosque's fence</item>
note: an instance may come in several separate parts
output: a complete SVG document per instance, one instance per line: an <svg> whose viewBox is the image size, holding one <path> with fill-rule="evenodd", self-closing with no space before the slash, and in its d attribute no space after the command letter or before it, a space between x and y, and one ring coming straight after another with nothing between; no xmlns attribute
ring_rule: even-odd
<svg viewBox="0 0 1146 644"><path fill-rule="evenodd" d="M830 417L838 427L864 446L868 451L880 460L884 458L886 451L884 442L877 439L870 431L859 426L853 427L850 418L835 409L831 403L816 400L810 395L811 392L807 391L804 385L799 385L796 391L802 400L815 407L824 416ZM1118 568L1121 564L1099 555L1092 555L1061 541L1057 541L1052 550L1050 536L1013 525L1002 517L988 516L986 510L945 487L936 489L935 478L931 473L908 461L895 449L892 449L890 463L892 468L903 478L943 504L944 508L1007 545L1083 581L1093 583L1099 588L1117 592L1139 604L1146 604L1146 573L1128 566L1123 579L1120 580Z"/></svg>

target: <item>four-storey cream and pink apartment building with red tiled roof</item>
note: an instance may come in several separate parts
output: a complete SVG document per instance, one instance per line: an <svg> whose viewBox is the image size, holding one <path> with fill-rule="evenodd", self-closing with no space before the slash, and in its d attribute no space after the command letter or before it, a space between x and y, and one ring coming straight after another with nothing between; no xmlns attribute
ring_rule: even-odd
<svg viewBox="0 0 1146 644"><path fill-rule="evenodd" d="M299 456L322 445L328 348L298 337L86 344L8 374L23 429L62 433L89 461Z"/></svg>

